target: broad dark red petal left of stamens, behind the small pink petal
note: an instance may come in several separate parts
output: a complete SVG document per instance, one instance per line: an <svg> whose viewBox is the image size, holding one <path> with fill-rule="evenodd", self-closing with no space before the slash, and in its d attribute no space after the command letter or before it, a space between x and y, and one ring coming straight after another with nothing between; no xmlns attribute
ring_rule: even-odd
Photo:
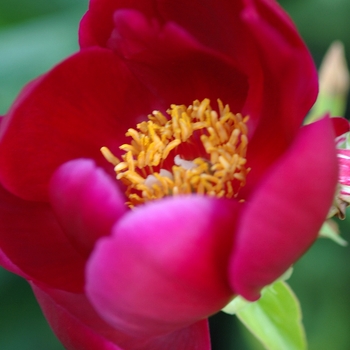
<svg viewBox="0 0 350 350"><path fill-rule="evenodd" d="M1 182L21 198L47 201L52 173L68 160L92 158L112 174L100 148L119 154L127 129L156 106L115 54L79 52L27 87L4 117Z"/></svg>

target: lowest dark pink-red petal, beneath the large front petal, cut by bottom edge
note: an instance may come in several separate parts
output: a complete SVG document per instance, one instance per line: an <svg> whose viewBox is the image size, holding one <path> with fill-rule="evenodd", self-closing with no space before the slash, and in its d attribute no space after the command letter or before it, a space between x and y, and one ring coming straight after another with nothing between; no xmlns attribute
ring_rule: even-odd
<svg viewBox="0 0 350 350"><path fill-rule="evenodd" d="M67 350L210 350L205 320L154 339L130 337L105 323L84 294L31 285L45 317Z"/></svg>

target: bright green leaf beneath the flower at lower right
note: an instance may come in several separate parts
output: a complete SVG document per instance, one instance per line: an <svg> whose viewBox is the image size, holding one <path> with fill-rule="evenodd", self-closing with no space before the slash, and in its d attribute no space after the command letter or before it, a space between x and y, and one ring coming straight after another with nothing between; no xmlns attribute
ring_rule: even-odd
<svg viewBox="0 0 350 350"><path fill-rule="evenodd" d="M247 302L236 315L268 350L307 349L298 299L283 281L265 288L258 301Z"/></svg>

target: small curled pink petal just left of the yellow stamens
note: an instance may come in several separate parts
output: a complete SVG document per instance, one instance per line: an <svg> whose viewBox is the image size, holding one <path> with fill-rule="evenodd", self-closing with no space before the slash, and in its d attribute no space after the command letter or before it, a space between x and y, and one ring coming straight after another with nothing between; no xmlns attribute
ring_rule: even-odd
<svg viewBox="0 0 350 350"><path fill-rule="evenodd" d="M63 164L50 182L53 209L73 245L88 255L125 213L125 197L92 160Z"/></svg>

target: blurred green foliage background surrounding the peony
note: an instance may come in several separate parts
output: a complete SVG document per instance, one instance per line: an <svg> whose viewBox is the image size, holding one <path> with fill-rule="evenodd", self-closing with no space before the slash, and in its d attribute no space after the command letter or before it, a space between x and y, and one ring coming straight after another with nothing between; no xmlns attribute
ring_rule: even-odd
<svg viewBox="0 0 350 350"><path fill-rule="evenodd" d="M349 0L279 2L317 64L335 39L344 42L350 59ZM77 50L78 23L87 4L87 0L0 0L0 114L25 83ZM350 241L350 219L340 224L343 237ZM289 282L302 305L310 350L350 349L349 255L349 247L320 239L295 266ZM213 350L259 348L231 316L216 316L212 327ZM1 268L0 349L63 349L28 284Z"/></svg>

